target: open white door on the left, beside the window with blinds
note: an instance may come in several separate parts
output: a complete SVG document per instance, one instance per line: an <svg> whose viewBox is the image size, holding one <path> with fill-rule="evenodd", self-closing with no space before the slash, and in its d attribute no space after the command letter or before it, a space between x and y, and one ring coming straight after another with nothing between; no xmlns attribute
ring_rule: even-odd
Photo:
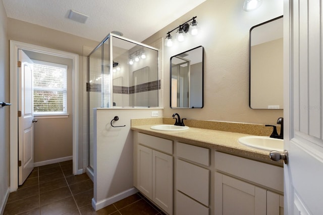
<svg viewBox="0 0 323 215"><path fill-rule="evenodd" d="M18 59L18 183L22 185L34 168L33 63L21 49Z"/></svg>

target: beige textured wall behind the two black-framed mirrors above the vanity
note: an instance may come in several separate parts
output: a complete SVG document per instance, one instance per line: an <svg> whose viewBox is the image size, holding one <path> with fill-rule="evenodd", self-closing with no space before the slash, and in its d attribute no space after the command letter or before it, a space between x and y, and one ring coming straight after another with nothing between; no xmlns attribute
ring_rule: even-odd
<svg viewBox="0 0 323 215"><path fill-rule="evenodd" d="M281 3L281 7L274 4ZM272 5L271 5L272 4ZM282 1L264 1L253 12L242 10L243 1L207 0L175 22L152 35L151 43L193 16L200 33L173 47L164 47L164 116L179 113L182 117L276 124L282 110L251 110L249 108L249 30L252 26L283 14ZM174 32L175 33L175 32ZM175 34L173 34L173 37ZM197 110L170 109L170 58L183 51L204 47L204 108Z"/></svg>

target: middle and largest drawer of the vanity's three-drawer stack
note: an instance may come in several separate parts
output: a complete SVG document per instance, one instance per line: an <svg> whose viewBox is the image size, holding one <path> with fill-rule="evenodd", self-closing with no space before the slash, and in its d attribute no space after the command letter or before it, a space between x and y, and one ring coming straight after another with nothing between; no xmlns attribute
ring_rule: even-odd
<svg viewBox="0 0 323 215"><path fill-rule="evenodd" d="M209 170L177 159L177 190L206 206L209 205L209 178Z"/></svg>

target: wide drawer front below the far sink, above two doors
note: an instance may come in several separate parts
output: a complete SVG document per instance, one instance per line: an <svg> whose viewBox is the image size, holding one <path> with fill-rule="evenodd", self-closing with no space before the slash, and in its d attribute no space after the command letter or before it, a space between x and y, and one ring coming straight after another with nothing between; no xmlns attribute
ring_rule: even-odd
<svg viewBox="0 0 323 215"><path fill-rule="evenodd" d="M138 133L138 143L150 148L173 154L173 141L148 134Z"/></svg>

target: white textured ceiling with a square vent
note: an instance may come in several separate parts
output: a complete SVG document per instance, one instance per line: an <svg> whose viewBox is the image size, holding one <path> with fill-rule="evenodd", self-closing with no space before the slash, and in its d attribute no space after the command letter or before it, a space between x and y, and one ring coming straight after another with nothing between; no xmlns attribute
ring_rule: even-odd
<svg viewBox="0 0 323 215"><path fill-rule="evenodd" d="M111 31L121 31L127 38L142 41L204 1L3 0L3 3L9 18L96 41ZM86 23L68 19L71 9L88 15Z"/></svg>

